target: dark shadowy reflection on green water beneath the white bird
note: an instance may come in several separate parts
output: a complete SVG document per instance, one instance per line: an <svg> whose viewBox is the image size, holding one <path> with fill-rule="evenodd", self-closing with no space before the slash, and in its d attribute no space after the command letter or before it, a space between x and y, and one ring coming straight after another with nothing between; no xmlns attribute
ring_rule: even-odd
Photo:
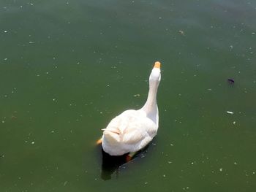
<svg viewBox="0 0 256 192"><path fill-rule="evenodd" d="M139 151L132 159L134 158L143 158L144 155L147 152L147 147L145 149ZM116 174L116 179L118 178L119 169L124 164L129 164L127 162L127 155L120 155L120 156L111 156L108 155L108 153L105 153L104 150L102 150L102 172L101 172L101 178L102 180L111 180L113 173Z"/></svg>

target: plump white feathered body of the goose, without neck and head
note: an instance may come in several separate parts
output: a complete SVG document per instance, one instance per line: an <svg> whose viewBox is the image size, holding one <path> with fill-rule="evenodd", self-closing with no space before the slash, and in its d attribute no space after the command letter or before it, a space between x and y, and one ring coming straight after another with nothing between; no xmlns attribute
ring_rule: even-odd
<svg viewBox="0 0 256 192"><path fill-rule="evenodd" d="M148 118L143 110L124 111L105 128L103 150L110 155L134 153L151 142L157 134L157 128L158 122Z"/></svg>

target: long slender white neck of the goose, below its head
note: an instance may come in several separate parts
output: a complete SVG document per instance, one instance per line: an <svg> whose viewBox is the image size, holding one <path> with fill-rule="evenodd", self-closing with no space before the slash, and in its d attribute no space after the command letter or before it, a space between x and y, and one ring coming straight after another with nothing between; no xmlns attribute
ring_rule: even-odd
<svg viewBox="0 0 256 192"><path fill-rule="evenodd" d="M142 107L147 115L157 113L157 88L158 82L149 82L148 99Z"/></svg>

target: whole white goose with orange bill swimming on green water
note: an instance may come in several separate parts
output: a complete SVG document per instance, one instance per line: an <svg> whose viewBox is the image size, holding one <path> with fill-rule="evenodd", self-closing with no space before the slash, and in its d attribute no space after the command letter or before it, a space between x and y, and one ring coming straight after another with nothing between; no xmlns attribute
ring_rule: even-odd
<svg viewBox="0 0 256 192"><path fill-rule="evenodd" d="M161 80L160 63L157 61L149 77L146 104L140 110L126 110L110 121L97 142L110 155L129 153L130 160L136 152L146 147L158 129L157 88Z"/></svg>

